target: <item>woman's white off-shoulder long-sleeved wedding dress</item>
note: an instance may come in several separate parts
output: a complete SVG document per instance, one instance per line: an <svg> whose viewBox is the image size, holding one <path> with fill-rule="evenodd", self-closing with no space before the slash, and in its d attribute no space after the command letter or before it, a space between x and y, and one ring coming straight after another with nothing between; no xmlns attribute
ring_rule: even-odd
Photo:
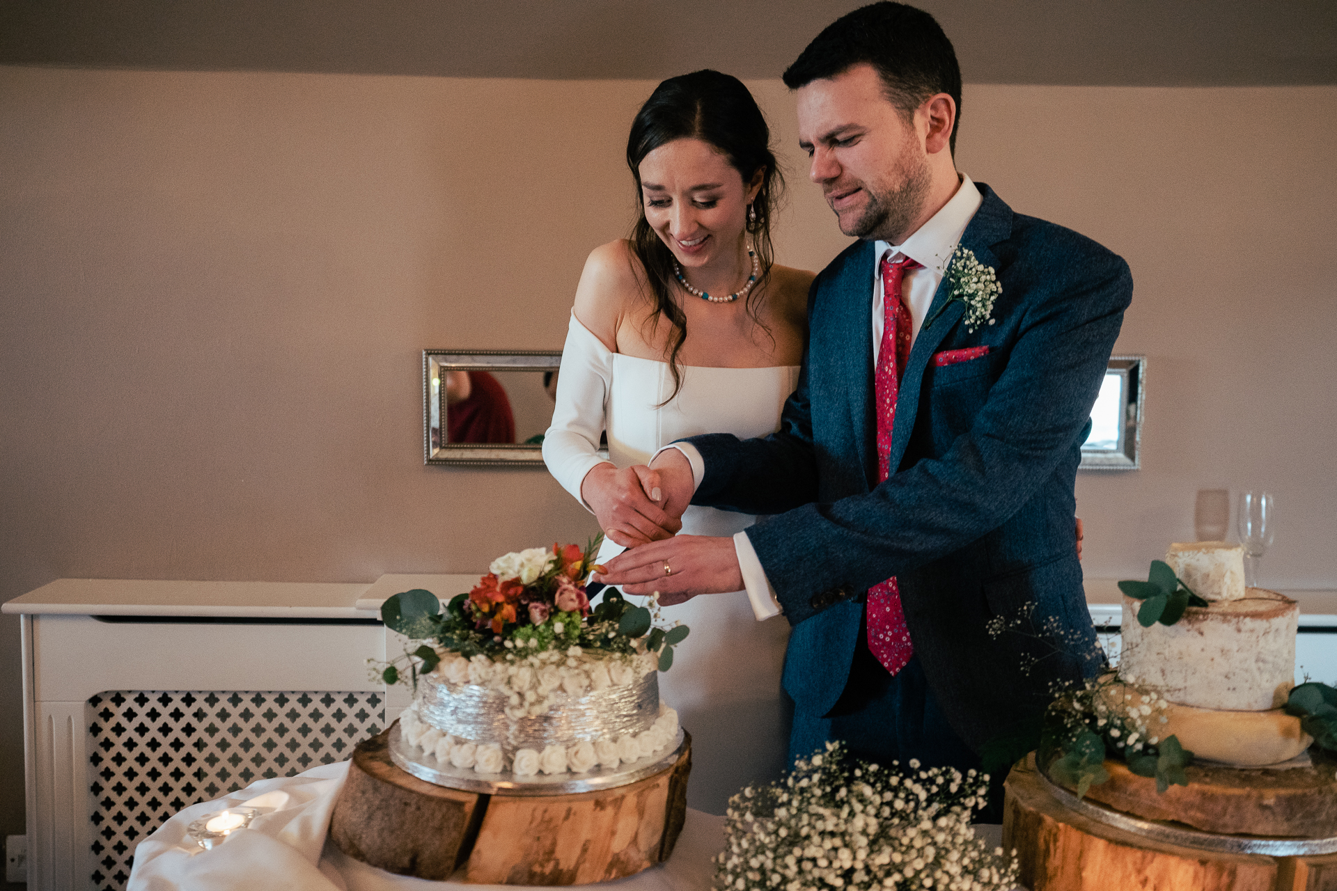
<svg viewBox="0 0 1337 891"><path fill-rule="evenodd" d="M647 464L660 446L701 433L766 435L779 429L781 407L797 383L797 365L685 366L678 394L656 407L673 393L668 363L612 353L572 314L543 458L579 501L580 482L604 461L596 454L604 430L608 460L619 468ZM733 536L754 520L693 505L681 534ZM619 552L606 540L599 557ZM789 624L758 622L741 590L664 606L663 617L691 628L673 668L659 676L660 695L693 736L689 803L722 814L729 795L785 767L789 725L779 672Z"/></svg>

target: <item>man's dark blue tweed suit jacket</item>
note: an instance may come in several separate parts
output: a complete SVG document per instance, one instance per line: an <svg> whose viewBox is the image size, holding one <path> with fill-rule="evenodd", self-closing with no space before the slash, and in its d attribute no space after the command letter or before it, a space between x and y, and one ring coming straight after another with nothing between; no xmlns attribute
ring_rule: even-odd
<svg viewBox="0 0 1337 891"><path fill-rule="evenodd" d="M706 465L693 504L773 514L747 536L793 625L783 685L796 709L821 716L836 704L862 594L897 576L925 677L976 751L1038 716L1051 681L1103 661L1076 558L1074 484L1132 297L1119 256L979 188L984 203L961 246L997 273L996 322L967 331L944 278L927 318L947 309L920 331L904 371L889 480L877 481L868 242L813 282L802 373L779 431L691 438ZM989 350L931 361L969 346ZM1013 628L991 636L996 617Z"/></svg>

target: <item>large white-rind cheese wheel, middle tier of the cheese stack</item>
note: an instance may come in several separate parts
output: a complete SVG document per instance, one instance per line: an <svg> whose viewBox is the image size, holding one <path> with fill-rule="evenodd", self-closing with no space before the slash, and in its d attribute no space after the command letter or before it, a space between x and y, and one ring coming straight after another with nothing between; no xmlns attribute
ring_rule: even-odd
<svg viewBox="0 0 1337 891"><path fill-rule="evenodd" d="M1242 712L1284 705L1296 677L1300 605L1259 588L1246 593L1150 628L1138 624L1142 601L1124 597L1119 675L1179 705Z"/></svg>

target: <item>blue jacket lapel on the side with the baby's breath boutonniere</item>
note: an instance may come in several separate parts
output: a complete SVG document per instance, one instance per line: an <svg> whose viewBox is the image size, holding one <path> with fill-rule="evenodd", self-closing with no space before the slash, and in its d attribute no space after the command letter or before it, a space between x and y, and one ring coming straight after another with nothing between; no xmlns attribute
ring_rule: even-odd
<svg viewBox="0 0 1337 891"><path fill-rule="evenodd" d="M971 218L969 224L967 224L960 243L961 247L973 251L976 259L984 266L997 267L997 256L993 255L991 248L1012 234L1012 208L995 195L993 190L988 186L976 183L976 187L984 195L984 202L980 204L980 210L975 211L975 216ZM869 270L869 274L872 274L872 270ZM937 286L937 291L933 293L933 302L924 315L932 323L928 330L920 330L919 337L915 338L915 346L910 347L910 358L905 363L905 374L901 377L900 391L896 397L897 423L892 427L889 465L892 473L896 473L896 469L901 466L901 461L905 458L905 448L909 445L910 433L915 429L924 369L928 367L928 361L947 338L948 331L965 314L965 306L960 301L948 305L947 298L949 291L951 283L947 275L944 275Z"/></svg>

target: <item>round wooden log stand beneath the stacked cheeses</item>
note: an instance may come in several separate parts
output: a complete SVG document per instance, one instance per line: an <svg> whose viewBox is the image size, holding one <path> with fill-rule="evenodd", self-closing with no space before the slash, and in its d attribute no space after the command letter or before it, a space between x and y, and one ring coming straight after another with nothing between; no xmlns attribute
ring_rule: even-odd
<svg viewBox="0 0 1337 891"><path fill-rule="evenodd" d="M1110 779L1079 801L1032 752L1005 783L1003 847L1031 891L1337 891L1337 765L1310 755L1288 769L1191 764L1189 785L1159 796L1106 761Z"/></svg>

